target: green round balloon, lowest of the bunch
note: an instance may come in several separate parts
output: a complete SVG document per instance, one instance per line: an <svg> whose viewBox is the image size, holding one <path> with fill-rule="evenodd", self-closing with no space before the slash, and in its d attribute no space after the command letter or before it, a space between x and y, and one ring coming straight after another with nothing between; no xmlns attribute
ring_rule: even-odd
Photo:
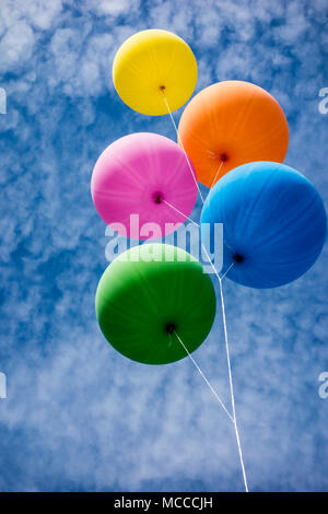
<svg viewBox="0 0 328 514"><path fill-rule="evenodd" d="M105 338L133 361L166 364L208 336L215 293L200 262L183 249L143 244L120 254L98 283L96 316Z"/></svg>

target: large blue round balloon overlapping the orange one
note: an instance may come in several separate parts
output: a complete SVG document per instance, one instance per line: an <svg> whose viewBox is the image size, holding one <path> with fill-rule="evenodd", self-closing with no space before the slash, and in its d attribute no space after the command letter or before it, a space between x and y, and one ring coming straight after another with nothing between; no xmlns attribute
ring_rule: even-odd
<svg viewBox="0 0 328 514"><path fill-rule="evenodd" d="M301 277L319 256L326 212L315 187L290 166L244 164L210 191L203 237L223 223L226 277L249 288L276 288Z"/></svg>

